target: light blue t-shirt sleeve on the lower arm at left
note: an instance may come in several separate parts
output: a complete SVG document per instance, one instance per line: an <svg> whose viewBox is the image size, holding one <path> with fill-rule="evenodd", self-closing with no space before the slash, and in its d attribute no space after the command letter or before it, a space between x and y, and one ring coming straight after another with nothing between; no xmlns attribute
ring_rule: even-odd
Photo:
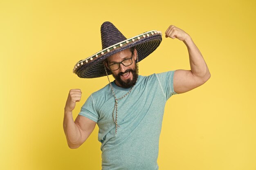
<svg viewBox="0 0 256 170"><path fill-rule="evenodd" d="M81 107L79 115L87 117L92 121L95 121L96 123L98 122L99 114L97 113L97 110L94 107L92 95L88 97L88 99L85 101L85 103Z"/></svg>

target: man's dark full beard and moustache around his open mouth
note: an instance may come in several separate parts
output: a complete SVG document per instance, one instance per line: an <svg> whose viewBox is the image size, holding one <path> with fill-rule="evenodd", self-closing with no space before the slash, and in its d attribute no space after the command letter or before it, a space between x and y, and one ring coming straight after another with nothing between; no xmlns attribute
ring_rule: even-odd
<svg viewBox="0 0 256 170"><path fill-rule="evenodd" d="M128 73L128 72L132 73L132 79L127 79L125 81L123 81L121 79L121 75ZM123 88L131 88L132 86L134 86L137 82L138 79L138 75L137 75L137 65L135 64L135 69L132 70L131 68L127 69L125 72L120 72L118 75L114 75L112 74L113 77L117 80L117 82L123 87Z"/></svg>

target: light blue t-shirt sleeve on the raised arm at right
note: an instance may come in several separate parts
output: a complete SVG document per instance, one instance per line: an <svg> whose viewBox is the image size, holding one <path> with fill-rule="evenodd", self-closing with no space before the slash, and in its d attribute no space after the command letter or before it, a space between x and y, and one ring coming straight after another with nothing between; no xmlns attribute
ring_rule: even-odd
<svg viewBox="0 0 256 170"><path fill-rule="evenodd" d="M156 74L159 84L162 88L162 91L166 97L166 100L168 100L172 95L178 94L174 91L174 88L173 88L174 72L175 70Z"/></svg>

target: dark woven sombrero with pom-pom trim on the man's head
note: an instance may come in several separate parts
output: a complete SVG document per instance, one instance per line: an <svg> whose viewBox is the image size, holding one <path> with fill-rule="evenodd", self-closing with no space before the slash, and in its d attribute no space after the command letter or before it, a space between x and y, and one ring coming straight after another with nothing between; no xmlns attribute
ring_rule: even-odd
<svg viewBox="0 0 256 170"><path fill-rule="evenodd" d="M73 73L80 78L105 76L107 74L103 64L104 59L124 49L135 47L138 61L141 61L155 51L161 42L161 31L147 31L127 39L111 22L104 22L101 25L102 50L77 62ZM108 75L112 74L109 69L107 72Z"/></svg>

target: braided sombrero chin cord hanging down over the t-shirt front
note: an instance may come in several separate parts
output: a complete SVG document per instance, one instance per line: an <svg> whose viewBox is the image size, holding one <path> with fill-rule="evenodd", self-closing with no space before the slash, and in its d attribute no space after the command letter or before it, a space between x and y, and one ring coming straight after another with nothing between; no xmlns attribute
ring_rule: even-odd
<svg viewBox="0 0 256 170"><path fill-rule="evenodd" d="M139 60L138 60L138 53L137 53L137 75L139 76ZM108 72L107 72L107 70L106 70L106 66L105 66L105 64L104 64L104 68L105 68L105 71L106 71L106 73L107 73L107 77L108 77ZM139 78L139 77L138 77ZM137 78L137 80L136 80L136 83L137 83L137 81L138 81L138 78ZM116 124L116 134L117 134L117 127L120 127L118 124L117 124L117 101L118 100L120 100L120 99L123 99L124 97L126 97L131 91L132 91L132 89L133 89L133 87L134 86L132 86L132 88L130 89L130 91L128 91L123 97L120 97L120 98L117 98L116 97L116 95L115 95L115 92L114 92L114 89L113 89L113 87L112 87L112 85L111 85L111 83L110 83L110 80L109 80L109 77L108 77L108 82L109 82L109 85L110 85L110 87L111 87L111 90L112 90L112 93L113 93L113 95L114 95L114 97L115 97L115 106L114 106L114 110L113 110L113 112L112 112L112 115L113 115L113 121L115 122L115 124ZM135 84L136 84L135 83ZM116 120L115 120L115 117L114 117L114 112L115 112L115 110L116 110Z"/></svg>

